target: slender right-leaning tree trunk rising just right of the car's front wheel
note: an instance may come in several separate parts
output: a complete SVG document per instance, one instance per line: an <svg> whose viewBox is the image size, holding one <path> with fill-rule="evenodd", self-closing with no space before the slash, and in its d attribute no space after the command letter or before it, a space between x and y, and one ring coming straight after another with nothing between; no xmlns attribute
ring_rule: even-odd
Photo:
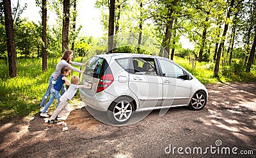
<svg viewBox="0 0 256 158"><path fill-rule="evenodd" d="M234 0L232 0L230 2L230 8L228 9L228 13L227 13L227 18L226 19L230 18L230 14L232 12L233 5L234 5ZM223 35L222 35L223 40L220 43L220 46L219 46L219 49L218 49L218 52L217 52L216 64L215 64L215 67L214 67L214 76L216 76L216 77L218 77L218 75L219 75L220 56L221 56L222 47L223 47L224 42L225 42L225 36L227 35L227 31L228 31L228 24L227 24L227 22L225 22L225 27L224 27L224 31L223 31Z"/></svg>

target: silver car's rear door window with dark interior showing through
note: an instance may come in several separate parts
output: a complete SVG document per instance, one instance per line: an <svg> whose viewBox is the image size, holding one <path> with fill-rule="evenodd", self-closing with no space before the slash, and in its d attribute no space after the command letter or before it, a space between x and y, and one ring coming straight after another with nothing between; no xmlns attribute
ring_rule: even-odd
<svg viewBox="0 0 256 158"><path fill-rule="evenodd" d="M132 58L134 74L156 75L154 58Z"/></svg>

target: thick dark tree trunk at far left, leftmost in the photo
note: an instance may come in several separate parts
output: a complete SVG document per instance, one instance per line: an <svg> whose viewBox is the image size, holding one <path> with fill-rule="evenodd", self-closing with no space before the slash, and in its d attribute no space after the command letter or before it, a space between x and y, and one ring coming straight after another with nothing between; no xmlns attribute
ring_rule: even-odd
<svg viewBox="0 0 256 158"><path fill-rule="evenodd" d="M12 6L10 0L3 0L4 5L4 21L6 31L6 43L9 61L9 75L10 77L17 76L17 59L15 54L15 43L14 43L14 29L12 19Z"/></svg>

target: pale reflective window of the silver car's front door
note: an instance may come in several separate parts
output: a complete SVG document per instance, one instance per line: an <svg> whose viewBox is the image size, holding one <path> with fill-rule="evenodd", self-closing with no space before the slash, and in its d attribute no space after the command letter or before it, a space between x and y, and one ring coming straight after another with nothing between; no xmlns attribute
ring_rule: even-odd
<svg viewBox="0 0 256 158"><path fill-rule="evenodd" d="M184 75L182 68L178 67L170 61L159 59L159 63L165 77L180 77Z"/></svg>

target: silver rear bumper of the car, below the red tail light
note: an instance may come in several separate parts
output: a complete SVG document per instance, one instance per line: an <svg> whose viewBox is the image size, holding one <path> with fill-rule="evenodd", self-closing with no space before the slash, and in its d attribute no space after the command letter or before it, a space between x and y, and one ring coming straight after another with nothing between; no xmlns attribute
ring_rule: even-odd
<svg viewBox="0 0 256 158"><path fill-rule="evenodd" d="M97 93L97 95L89 95L83 89L79 89L79 94L81 97L81 100L87 105L92 107L93 109L96 109L98 111L108 111L108 107L113 101L111 99L111 96L107 95L106 93Z"/></svg>

